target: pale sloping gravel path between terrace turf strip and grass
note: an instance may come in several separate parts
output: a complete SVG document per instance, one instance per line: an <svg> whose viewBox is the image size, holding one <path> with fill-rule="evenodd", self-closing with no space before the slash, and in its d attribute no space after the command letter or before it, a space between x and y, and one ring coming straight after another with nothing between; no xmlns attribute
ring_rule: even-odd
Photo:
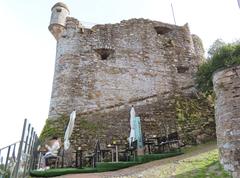
<svg viewBox="0 0 240 178"><path fill-rule="evenodd" d="M198 154L205 153L216 148L217 148L216 144L210 144L180 156L152 161L149 163L133 166L126 169L121 169L118 171L92 173L92 174L69 174L69 175L59 176L58 178L154 178L153 176L154 171L156 170L159 171L161 169L164 171L164 165L169 163L174 163L174 164L170 164L170 166L173 166L173 167L171 169L172 172L168 174L169 175L168 177L174 177L174 167L175 167L174 165L178 164L180 160L183 160L192 156L196 156Z"/></svg>

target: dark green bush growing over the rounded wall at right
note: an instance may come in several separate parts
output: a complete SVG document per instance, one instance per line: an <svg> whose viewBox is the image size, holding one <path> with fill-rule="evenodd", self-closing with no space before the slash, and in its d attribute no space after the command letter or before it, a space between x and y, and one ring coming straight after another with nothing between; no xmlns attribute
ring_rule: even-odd
<svg viewBox="0 0 240 178"><path fill-rule="evenodd" d="M218 69L240 65L240 44L227 44L215 50L212 57L203 63L196 74L197 88L202 92L212 93L212 75Z"/></svg>

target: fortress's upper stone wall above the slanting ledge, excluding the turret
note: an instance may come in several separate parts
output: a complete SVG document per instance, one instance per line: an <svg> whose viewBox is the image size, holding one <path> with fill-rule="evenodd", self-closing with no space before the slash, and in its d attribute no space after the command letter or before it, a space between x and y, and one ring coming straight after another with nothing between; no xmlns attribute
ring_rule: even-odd
<svg viewBox="0 0 240 178"><path fill-rule="evenodd" d="M190 93L202 57L196 44L187 25L132 19L83 29L67 18L57 41L49 118L175 90Z"/></svg>

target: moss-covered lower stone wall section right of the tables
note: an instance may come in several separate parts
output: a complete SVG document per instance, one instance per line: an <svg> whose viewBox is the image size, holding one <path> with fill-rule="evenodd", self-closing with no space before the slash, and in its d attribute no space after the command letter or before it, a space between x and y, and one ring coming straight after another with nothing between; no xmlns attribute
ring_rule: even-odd
<svg viewBox="0 0 240 178"><path fill-rule="evenodd" d="M214 97L202 93L175 99L177 124L185 144L197 144L215 138Z"/></svg>

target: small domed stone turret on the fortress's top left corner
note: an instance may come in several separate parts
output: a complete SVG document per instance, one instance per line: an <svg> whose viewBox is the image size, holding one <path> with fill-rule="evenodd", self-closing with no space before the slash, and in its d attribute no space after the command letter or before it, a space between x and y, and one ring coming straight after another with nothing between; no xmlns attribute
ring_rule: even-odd
<svg viewBox="0 0 240 178"><path fill-rule="evenodd" d="M52 16L49 31L53 34L56 40L59 39L65 28L66 17L69 15L67 6L61 2L58 2L52 7Z"/></svg>

